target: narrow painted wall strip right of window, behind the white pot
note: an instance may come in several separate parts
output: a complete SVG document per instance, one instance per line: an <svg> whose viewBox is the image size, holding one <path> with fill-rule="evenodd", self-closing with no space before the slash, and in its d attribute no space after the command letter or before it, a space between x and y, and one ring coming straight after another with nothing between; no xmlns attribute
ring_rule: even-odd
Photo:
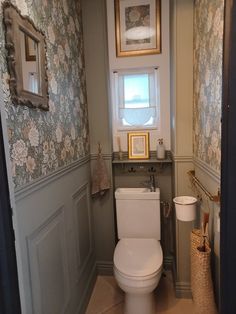
<svg viewBox="0 0 236 314"><path fill-rule="evenodd" d="M193 169L193 0L171 0L171 145L173 196L194 195L188 177ZM191 297L190 232L192 222L175 219L175 288L178 297Z"/></svg>

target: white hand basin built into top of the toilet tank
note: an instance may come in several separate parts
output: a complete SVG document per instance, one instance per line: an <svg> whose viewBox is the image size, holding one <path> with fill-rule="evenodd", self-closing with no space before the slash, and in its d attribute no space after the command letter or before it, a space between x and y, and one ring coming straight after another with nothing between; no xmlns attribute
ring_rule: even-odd
<svg viewBox="0 0 236 314"><path fill-rule="evenodd" d="M156 188L155 192L151 192L148 188L118 188L115 191L116 199L160 199L160 189Z"/></svg>

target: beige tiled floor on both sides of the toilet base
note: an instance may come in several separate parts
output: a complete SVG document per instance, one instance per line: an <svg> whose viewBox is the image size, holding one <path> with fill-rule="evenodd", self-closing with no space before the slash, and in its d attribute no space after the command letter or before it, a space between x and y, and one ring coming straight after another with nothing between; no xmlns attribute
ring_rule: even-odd
<svg viewBox="0 0 236 314"><path fill-rule="evenodd" d="M190 299L176 299L172 276L165 272L155 290L156 313L190 314L194 312ZM123 314L124 294L117 286L114 277L99 276L93 290L86 314Z"/></svg>

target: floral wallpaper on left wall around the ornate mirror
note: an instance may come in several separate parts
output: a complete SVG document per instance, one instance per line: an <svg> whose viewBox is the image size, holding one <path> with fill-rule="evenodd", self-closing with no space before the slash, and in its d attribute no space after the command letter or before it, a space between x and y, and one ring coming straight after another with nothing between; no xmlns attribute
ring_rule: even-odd
<svg viewBox="0 0 236 314"><path fill-rule="evenodd" d="M88 154L88 111L80 1L12 3L46 36L49 78L49 112L14 106L6 51L0 51L12 175L20 187ZM4 42L2 26L0 39Z"/></svg>

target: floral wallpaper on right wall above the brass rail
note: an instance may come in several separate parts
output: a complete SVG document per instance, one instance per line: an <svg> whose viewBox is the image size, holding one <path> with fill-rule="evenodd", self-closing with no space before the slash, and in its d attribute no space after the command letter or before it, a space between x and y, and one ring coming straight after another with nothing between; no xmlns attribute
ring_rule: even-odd
<svg viewBox="0 0 236 314"><path fill-rule="evenodd" d="M224 0L195 0L194 155L214 170L221 163Z"/></svg>

